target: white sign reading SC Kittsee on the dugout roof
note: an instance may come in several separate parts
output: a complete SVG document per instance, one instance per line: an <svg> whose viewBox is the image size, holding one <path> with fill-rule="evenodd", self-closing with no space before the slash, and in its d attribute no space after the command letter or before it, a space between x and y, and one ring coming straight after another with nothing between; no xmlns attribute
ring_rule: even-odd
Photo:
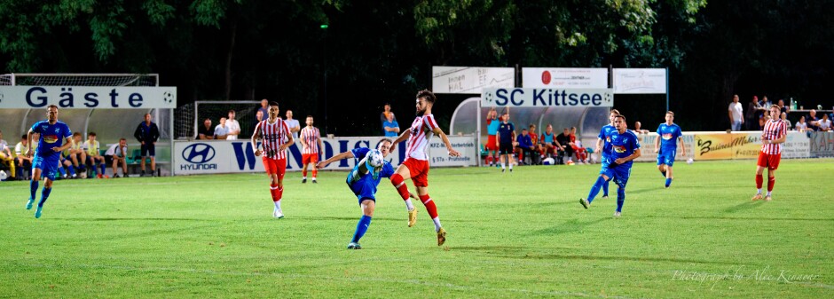
<svg viewBox="0 0 834 299"><path fill-rule="evenodd" d="M610 89L488 88L481 94L481 106L610 107L614 93Z"/></svg>

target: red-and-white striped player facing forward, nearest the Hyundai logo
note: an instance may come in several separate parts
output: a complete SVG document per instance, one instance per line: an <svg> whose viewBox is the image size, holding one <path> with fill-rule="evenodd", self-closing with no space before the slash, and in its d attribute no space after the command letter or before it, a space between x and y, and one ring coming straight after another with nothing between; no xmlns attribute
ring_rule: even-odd
<svg viewBox="0 0 834 299"><path fill-rule="evenodd" d="M278 117L278 103L269 103L269 118L258 122L255 126L255 133L252 134L252 148L255 155L264 153L264 169L270 177L270 193L275 209L272 209L272 216L283 218L281 210L281 197L284 194L284 172L287 169L287 147L295 142L293 134L289 131L287 122ZM257 147L256 140L261 139L263 147Z"/></svg>

